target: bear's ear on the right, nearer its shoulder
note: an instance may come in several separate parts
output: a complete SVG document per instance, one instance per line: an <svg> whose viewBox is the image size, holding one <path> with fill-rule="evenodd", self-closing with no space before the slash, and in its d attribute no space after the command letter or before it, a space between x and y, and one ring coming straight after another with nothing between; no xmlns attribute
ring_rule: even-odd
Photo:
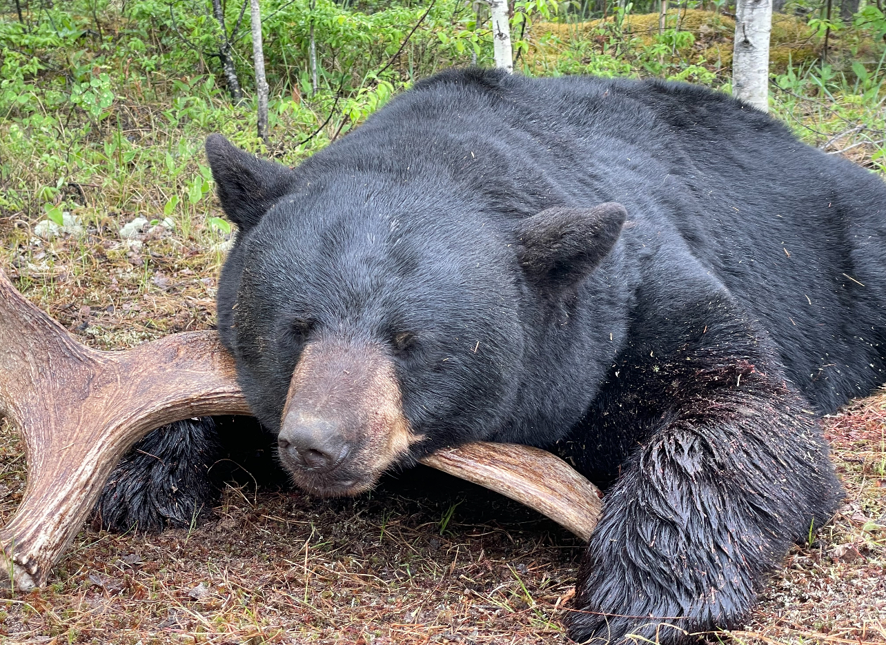
<svg viewBox="0 0 886 645"><path fill-rule="evenodd" d="M590 275L610 253L626 217L625 206L617 202L548 208L517 225L517 260L533 284L558 294Z"/></svg>

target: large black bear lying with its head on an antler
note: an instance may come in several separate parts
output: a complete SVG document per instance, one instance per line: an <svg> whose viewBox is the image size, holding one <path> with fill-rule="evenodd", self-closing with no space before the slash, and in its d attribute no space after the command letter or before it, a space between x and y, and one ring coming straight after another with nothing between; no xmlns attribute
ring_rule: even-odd
<svg viewBox="0 0 886 645"><path fill-rule="evenodd" d="M294 170L206 152L239 229L219 331L297 483L558 452L609 486L576 641L740 625L839 504L819 416L886 380L873 173L707 89L479 69Z"/></svg>

